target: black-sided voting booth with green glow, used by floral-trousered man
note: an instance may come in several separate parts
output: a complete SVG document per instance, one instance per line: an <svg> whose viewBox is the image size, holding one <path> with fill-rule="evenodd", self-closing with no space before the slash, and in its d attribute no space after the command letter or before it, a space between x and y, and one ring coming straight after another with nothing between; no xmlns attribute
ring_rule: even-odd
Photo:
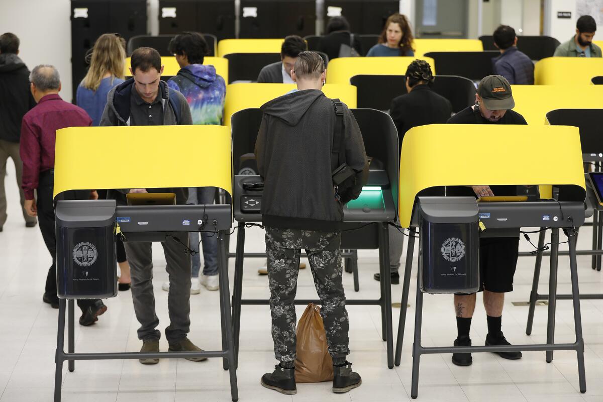
<svg viewBox="0 0 603 402"><path fill-rule="evenodd" d="M376 305L381 309L382 339L387 341L387 365L393 368L393 334L391 321L391 278L389 261L388 222L396 221L397 212L397 131L390 116L372 109L351 109L358 122L364 139L367 156L372 159L368 182L358 199L343 207L344 225L342 228L341 249L379 250L380 297L376 300L358 300L347 298L348 306ZM253 157L257 131L262 111L248 108L235 113L232 117L233 159L239 160L242 154ZM255 126L253 126L255 124ZM378 162L378 163L377 163ZM263 183L259 175L236 173L233 188L233 210L235 220L239 222L235 260L235 283L233 289L233 325L235 345L238 349L243 304L268 304L266 299L242 299L242 275L245 246L245 224L261 222ZM264 257L265 254L254 254ZM349 295L349 294L348 294ZM295 304L318 303L317 300L295 300Z"/></svg>

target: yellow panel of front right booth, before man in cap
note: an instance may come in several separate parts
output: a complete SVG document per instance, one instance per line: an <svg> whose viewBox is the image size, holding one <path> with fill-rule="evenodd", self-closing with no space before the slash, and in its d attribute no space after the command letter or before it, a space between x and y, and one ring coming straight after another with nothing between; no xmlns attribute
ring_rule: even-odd
<svg viewBox="0 0 603 402"><path fill-rule="evenodd" d="M400 155L400 224L433 186L575 184L586 189L578 127L432 124L409 130Z"/></svg>

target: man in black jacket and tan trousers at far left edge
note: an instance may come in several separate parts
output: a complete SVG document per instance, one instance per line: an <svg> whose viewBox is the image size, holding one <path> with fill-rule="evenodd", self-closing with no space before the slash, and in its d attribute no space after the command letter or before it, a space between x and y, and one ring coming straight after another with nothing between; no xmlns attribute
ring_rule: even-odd
<svg viewBox="0 0 603 402"><path fill-rule="evenodd" d="M21 120L36 105L30 92L30 71L18 54L19 38L11 33L0 35L0 231L7 219L4 177L8 158L14 162L21 207L25 202L21 188L23 163L19 156ZM34 227L36 218L27 215L23 208L22 213L25 226Z"/></svg>

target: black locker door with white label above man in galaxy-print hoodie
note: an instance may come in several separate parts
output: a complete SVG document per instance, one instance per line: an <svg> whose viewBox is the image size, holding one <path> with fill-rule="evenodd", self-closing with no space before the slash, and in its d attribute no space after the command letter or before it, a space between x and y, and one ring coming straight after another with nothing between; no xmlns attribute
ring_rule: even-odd
<svg viewBox="0 0 603 402"><path fill-rule="evenodd" d="M197 4L197 0L160 0L159 34L197 31Z"/></svg>

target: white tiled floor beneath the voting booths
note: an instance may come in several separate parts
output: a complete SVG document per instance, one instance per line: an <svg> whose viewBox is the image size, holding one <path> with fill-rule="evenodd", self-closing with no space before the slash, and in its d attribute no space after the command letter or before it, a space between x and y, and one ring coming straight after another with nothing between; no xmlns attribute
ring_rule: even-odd
<svg viewBox="0 0 603 402"><path fill-rule="evenodd" d="M9 163L10 165L10 163ZM6 178L8 222L0 233L0 401L42 402L52 400L57 310L42 303L42 292L50 258L39 228L25 228L17 209L14 170ZM584 228L579 247L588 248L591 228ZM535 241L534 239L532 241ZM247 251L261 251L262 232L248 231ZM234 247L234 245L233 245ZM529 250L525 240L522 250ZM563 249L563 246L562 246ZM167 275L162 251L156 248L157 314L165 328L168 322L166 292L161 283ZM538 306L532 336L526 336L528 307L513 306L512 301L528 299L533 273L533 257L520 257L515 276L515 291L505 301L503 330L512 343L544 342L546 307ZM545 264L548 259L545 259ZM603 292L603 272L590 268L590 257L579 257L581 291ZM244 297L267 297L267 278L257 275L261 259L245 260ZM231 260L231 268L233 261ZM379 286L372 276L377 272L375 251L360 251L361 291L353 292L352 275L344 276L349 298L374 298ZM570 289L569 263L560 258L559 291ZM416 265L415 265L416 269ZM274 365L270 338L270 313L267 306L244 306L241 325L241 354L238 368L241 401L291 402L379 402L406 401L411 385L411 344L414 323L413 273L408 323L402 365L387 368L385 344L380 338L380 312L376 306L350 306L350 361L362 375L363 383L349 394L335 395L329 383L300 384L297 395L277 394L259 385L260 376ZM232 269L231 269L232 283ZM541 292L548 289L548 269L541 272ZM400 301L402 289L393 286L393 300ZM299 297L315 297L309 269L301 271ZM92 327L75 328L76 351L137 351L138 326L130 292L120 292L107 300L109 310ZM603 301L582 301L582 320L586 341L586 394L578 391L576 354L555 352L552 363L544 352L524 353L523 359L509 361L493 354L474 354L473 365L457 367L450 355L425 355L421 358L419 401L528 401L578 402L603 401ZM203 348L221 346L218 292L203 290L191 297L191 339ZM303 312L298 307L298 316ZM394 333L399 309L394 309ZM450 295L426 295L423 314L423 345L450 345L456 336L455 316ZM483 344L487 333L484 308L478 305L473 319L474 345ZM572 304L559 301L557 341L573 342ZM167 349L165 339L162 350ZM229 401L229 375L219 359L194 363L187 360L162 360L143 366L137 360L76 362L75 372L64 368L63 401Z"/></svg>

